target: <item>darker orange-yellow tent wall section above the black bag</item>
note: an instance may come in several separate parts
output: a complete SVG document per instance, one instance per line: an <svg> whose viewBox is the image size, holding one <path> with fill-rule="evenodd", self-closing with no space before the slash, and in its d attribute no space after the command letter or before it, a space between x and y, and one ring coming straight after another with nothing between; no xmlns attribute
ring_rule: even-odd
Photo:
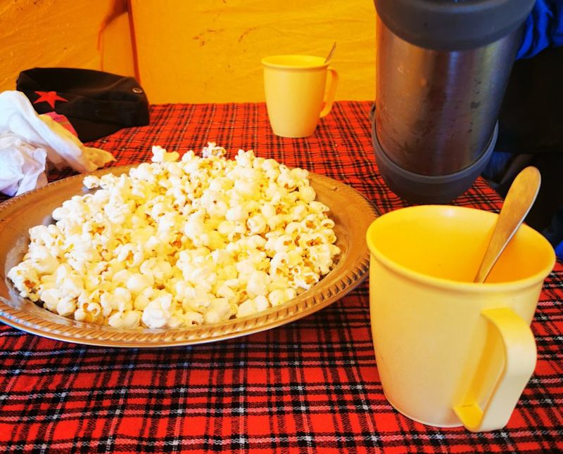
<svg viewBox="0 0 563 454"><path fill-rule="evenodd" d="M0 91L22 70L81 67L133 74L127 15L98 32L114 0L0 0ZM112 43L111 45L108 45Z"/></svg>

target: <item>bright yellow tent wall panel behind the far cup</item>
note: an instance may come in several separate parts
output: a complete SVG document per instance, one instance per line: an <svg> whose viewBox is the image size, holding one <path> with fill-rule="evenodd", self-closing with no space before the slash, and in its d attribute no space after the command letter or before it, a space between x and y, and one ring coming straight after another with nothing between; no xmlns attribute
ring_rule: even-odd
<svg viewBox="0 0 563 454"><path fill-rule="evenodd" d="M326 56L336 99L373 99L372 0L133 0L141 84L152 102L264 100L262 57Z"/></svg>

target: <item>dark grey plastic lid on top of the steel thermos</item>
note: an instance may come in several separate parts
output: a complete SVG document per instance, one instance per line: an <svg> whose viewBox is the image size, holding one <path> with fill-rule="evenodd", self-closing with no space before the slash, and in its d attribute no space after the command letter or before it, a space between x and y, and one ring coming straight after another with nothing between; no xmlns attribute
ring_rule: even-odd
<svg viewBox="0 0 563 454"><path fill-rule="evenodd" d="M535 0L374 0L379 18L405 41L464 51L497 41L521 25Z"/></svg>

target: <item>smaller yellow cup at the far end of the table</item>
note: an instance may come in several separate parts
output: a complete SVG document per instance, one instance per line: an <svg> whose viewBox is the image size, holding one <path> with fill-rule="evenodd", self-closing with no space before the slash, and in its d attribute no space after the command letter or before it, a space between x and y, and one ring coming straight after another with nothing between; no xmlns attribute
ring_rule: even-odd
<svg viewBox="0 0 563 454"><path fill-rule="evenodd" d="M315 132L334 101L339 75L324 58L272 56L262 58L266 107L274 134L307 137ZM327 73L331 82L327 86Z"/></svg>

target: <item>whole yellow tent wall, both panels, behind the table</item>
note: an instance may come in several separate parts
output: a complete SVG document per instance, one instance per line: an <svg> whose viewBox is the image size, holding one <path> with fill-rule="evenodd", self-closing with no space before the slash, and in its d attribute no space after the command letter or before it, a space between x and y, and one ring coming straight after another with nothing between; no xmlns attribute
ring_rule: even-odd
<svg viewBox="0 0 563 454"><path fill-rule="evenodd" d="M372 0L0 0L0 30L0 90L30 67L134 75L135 48L151 103L262 101L262 57L324 56L337 41L336 99L375 96Z"/></svg>

